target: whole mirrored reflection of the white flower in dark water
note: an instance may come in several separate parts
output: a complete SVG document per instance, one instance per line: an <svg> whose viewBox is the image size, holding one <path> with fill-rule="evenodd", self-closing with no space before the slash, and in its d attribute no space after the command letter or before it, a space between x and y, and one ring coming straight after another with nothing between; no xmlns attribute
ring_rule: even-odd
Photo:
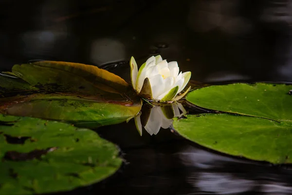
<svg viewBox="0 0 292 195"><path fill-rule="evenodd" d="M181 117L185 114L186 110L179 102L157 104L152 108L145 105L139 115L135 117L135 124L141 136L143 127L152 136L156 135L161 127L164 129L171 127L173 117Z"/></svg>

